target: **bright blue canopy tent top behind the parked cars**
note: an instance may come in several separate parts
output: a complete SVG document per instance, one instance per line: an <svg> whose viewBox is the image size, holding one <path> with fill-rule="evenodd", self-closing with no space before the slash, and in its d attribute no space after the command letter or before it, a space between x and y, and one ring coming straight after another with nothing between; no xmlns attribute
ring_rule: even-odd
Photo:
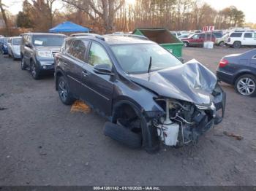
<svg viewBox="0 0 256 191"><path fill-rule="evenodd" d="M70 21L66 21L64 23L59 24L56 27L50 28L49 32L50 33L76 33L76 32L89 33L89 28L79 26Z"/></svg>

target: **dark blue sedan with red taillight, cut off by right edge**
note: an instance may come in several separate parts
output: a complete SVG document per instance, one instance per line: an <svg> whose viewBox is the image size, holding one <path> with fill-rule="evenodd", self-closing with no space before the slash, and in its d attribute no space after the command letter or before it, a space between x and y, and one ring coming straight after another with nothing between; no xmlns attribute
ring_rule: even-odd
<svg viewBox="0 0 256 191"><path fill-rule="evenodd" d="M241 95L256 96L256 49L244 54L226 55L219 62L217 77L234 85Z"/></svg>

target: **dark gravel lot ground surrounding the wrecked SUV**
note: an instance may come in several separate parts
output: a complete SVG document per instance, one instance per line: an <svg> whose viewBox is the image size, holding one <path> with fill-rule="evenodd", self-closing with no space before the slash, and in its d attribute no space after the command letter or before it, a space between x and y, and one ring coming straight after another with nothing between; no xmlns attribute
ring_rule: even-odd
<svg viewBox="0 0 256 191"><path fill-rule="evenodd" d="M222 56L246 50L186 48L184 58L215 72ZM35 81L19 64L0 55L0 185L256 185L256 98L222 83L220 125L194 146L149 155L105 137L105 119L71 113L53 77Z"/></svg>

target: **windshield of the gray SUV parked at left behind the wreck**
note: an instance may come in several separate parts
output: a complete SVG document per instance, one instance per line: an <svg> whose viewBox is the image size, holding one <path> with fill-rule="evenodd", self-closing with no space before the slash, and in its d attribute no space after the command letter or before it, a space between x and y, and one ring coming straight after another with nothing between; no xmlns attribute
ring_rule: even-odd
<svg viewBox="0 0 256 191"><path fill-rule="evenodd" d="M66 36L56 35L36 35L33 38L33 44L36 47L61 47Z"/></svg>

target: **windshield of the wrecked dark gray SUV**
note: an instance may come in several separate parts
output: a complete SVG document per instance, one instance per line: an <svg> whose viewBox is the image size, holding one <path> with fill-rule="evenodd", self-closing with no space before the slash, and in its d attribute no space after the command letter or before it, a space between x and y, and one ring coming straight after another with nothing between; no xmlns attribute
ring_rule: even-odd
<svg viewBox="0 0 256 191"><path fill-rule="evenodd" d="M181 65L181 61L158 44L116 44L111 47L127 74L143 74Z"/></svg>

